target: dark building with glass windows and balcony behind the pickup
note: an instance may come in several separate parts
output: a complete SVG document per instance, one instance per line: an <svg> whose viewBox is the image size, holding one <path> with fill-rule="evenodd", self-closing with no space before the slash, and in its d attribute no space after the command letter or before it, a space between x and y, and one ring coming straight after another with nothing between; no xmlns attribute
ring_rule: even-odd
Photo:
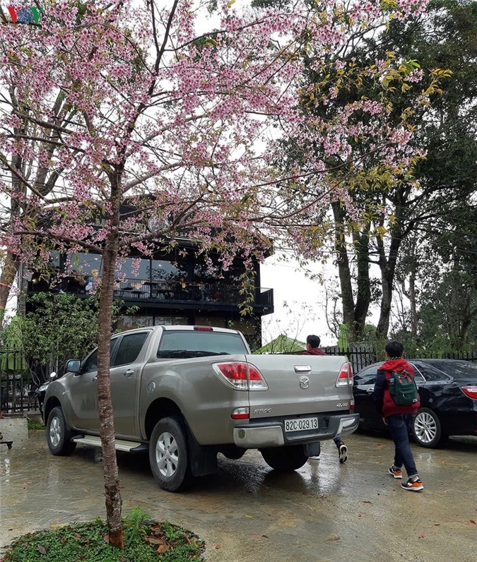
<svg viewBox="0 0 477 562"><path fill-rule="evenodd" d="M235 258L228 270L213 267L197 255L194 244L182 241L172 253L130 256L117 270L114 298L136 312L119 318L119 330L149 325L215 325L242 331L252 349L261 345L261 317L273 312L273 289L260 286L258 261L253 283L243 286L245 265ZM30 272L28 294L74 293L80 298L98 291L102 256L94 253L52 252L47 273ZM249 312L241 314L247 301ZM27 301L27 311L31 309Z"/></svg>

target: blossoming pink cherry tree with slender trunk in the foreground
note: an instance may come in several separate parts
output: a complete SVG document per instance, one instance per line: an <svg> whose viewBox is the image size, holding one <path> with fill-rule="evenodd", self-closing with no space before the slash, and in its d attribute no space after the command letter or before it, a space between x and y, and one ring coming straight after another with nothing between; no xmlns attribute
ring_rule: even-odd
<svg viewBox="0 0 477 562"><path fill-rule="evenodd" d="M384 25L423 4L46 0L28 25L0 14L0 189L16 205L2 217L1 242L36 267L53 248L102 254L98 405L110 544L124 545L109 384L117 261L131 249L173 247L180 236L206 256L218 251L226 269L239 252L246 263L262 258L271 239L307 249L319 236L307 229L310 216L330 201L352 213L326 155L356 166L381 158L399 173L410 134L373 121L389 110L379 100L355 101L327 119L304 111L302 100L326 104L334 90L307 87L303 56L326 83L328 55L351 27ZM398 66L339 70L347 80L360 72L384 80ZM285 138L300 159L288 154L283 172ZM350 138L370 150L354 153ZM124 205L129 213L120 213Z"/></svg>

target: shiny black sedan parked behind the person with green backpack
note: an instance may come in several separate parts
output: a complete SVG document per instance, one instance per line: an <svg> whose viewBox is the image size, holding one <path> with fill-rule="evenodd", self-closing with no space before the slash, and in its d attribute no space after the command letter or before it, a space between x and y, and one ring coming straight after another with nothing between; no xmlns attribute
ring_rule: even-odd
<svg viewBox="0 0 477 562"><path fill-rule="evenodd" d="M420 408L412 434L418 445L437 447L451 435L477 436L477 364L457 359L408 359L416 371ZM360 428L384 429L375 409L375 363L354 376L355 413Z"/></svg>

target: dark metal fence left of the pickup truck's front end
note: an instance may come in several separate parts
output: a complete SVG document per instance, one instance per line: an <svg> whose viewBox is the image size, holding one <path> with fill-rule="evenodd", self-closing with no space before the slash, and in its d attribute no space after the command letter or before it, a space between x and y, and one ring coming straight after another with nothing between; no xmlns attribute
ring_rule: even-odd
<svg viewBox="0 0 477 562"><path fill-rule="evenodd" d="M0 348L0 411L20 414L37 408L32 376L18 349Z"/></svg>

